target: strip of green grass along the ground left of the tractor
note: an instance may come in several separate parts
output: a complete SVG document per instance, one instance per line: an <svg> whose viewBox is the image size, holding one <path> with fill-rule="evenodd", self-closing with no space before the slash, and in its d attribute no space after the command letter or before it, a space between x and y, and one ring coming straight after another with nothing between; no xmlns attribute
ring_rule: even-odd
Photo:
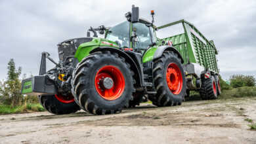
<svg viewBox="0 0 256 144"><path fill-rule="evenodd" d="M30 113L36 111L45 111L39 103L28 103L16 107L10 105L0 105L0 115L14 114L14 113Z"/></svg>

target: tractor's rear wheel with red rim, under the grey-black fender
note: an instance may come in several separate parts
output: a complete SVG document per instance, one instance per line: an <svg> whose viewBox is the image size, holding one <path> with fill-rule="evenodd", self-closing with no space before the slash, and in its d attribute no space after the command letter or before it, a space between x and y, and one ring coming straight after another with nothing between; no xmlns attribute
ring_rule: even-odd
<svg viewBox="0 0 256 144"><path fill-rule="evenodd" d="M186 95L186 79L181 60L172 51L165 51L154 60L154 84L157 91L150 99L156 106L181 105Z"/></svg>

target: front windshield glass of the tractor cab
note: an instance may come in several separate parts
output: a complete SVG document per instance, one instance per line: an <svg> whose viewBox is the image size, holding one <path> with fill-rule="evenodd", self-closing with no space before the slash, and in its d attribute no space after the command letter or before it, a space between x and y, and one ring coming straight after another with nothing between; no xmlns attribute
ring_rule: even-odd
<svg viewBox="0 0 256 144"><path fill-rule="evenodd" d="M121 48L129 47L129 22L125 21L111 27L106 39L116 42Z"/></svg>

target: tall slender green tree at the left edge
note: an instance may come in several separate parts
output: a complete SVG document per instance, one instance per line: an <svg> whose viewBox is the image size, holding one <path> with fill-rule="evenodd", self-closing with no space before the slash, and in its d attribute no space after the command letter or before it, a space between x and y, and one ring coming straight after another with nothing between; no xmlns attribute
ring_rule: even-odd
<svg viewBox="0 0 256 144"><path fill-rule="evenodd" d="M16 69L14 60L11 59L8 63L7 81L0 82L0 94L3 95L3 102L7 105L15 106L22 103L23 96L20 94L20 74L21 67Z"/></svg>

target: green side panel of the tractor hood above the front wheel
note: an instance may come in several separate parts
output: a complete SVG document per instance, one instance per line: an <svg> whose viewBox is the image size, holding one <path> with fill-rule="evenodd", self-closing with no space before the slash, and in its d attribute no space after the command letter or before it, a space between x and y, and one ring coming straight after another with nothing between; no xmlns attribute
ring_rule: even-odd
<svg viewBox="0 0 256 144"><path fill-rule="evenodd" d="M109 47L118 48L117 44L113 41L109 41L107 39L102 39L102 38L93 38L93 41L82 43L81 45L78 46L75 52L75 58L77 58L77 60L81 62L83 58L89 55L91 50L98 48L99 46L109 46Z"/></svg>

